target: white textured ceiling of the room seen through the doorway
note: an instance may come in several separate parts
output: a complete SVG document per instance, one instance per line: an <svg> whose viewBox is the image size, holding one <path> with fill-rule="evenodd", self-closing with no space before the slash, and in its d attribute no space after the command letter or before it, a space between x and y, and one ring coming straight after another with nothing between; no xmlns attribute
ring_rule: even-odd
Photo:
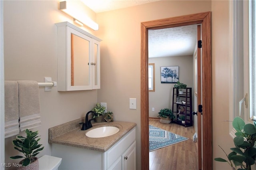
<svg viewBox="0 0 256 170"><path fill-rule="evenodd" d="M193 55L197 26L181 26L148 31L148 57Z"/></svg>

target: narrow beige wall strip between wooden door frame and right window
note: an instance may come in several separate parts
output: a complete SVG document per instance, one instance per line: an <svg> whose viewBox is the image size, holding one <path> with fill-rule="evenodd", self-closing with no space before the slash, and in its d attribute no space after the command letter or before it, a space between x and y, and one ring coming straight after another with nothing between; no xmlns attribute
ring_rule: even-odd
<svg viewBox="0 0 256 170"><path fill-rule="evenodd" d="M212 1L212 106L213 157L225 157L234 146L229 136L229 3ZM227 163L213 162L215 170L230 169Z"/></svg>

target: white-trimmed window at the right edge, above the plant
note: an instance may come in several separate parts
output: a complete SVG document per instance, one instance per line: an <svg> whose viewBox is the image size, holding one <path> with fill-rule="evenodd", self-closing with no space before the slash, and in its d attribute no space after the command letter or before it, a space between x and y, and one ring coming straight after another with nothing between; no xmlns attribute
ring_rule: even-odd
<svg viewBox="0 0 256 170"><path fill-rule="evenodd" d="M255 2L230 1L230 120L256 121ZM250 103L248 103L250 101ZM235 130L230 123L230 135Z"/></svg>

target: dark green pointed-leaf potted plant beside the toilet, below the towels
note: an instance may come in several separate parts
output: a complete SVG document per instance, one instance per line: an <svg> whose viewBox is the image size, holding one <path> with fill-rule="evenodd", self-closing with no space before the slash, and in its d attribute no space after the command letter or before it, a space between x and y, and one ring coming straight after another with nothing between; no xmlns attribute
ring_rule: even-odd
<svg viewBox="0 0 256 170"><path fill-rule="evenodd" d="M22 152L24 156L11 156L11 159L25 158L22 162L23 166L28 166L30 163L34 162L34 157L39 154L39 151L43 150L42 144L38 144L41 138L38 138L38 131L32 132L26 129L27 137L16 136L16 140L12 140L14 149ZM36 140L36 138L38 138ZM41 147L41 148L40 148Z"/></svg>

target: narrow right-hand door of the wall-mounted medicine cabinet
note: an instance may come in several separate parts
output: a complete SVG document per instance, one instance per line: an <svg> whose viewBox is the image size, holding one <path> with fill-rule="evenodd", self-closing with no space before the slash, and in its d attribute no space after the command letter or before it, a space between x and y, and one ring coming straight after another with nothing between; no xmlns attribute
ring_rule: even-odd
<svg viewBox="0 0 256 170"><path fill-rule="evenodd" d="M92 89L100 89L100 42L92 43Z"/></svg>

